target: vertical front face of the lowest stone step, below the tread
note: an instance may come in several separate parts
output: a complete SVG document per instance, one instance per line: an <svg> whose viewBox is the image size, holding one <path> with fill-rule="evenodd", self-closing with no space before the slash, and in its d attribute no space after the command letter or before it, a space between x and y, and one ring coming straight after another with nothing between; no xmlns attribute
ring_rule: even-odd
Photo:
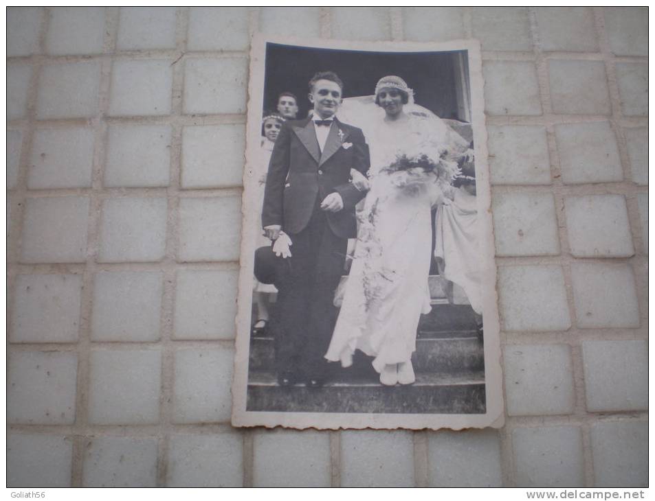
<svg viewBox="0 0 655 501"><path fill-rule="evenodd" d="M271 412L482 414L486 410L485 384L320 389L249 385L247 395L247 410Z"/></svg>

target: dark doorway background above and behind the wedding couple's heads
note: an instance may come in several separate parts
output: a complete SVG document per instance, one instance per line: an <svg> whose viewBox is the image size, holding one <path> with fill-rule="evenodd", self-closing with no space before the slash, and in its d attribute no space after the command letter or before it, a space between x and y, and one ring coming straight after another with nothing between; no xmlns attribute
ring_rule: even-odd
<svg viewBox="0 0 655 501"><path fill-rule="evenodd" d="M466 52L466 51L463 51ZM268 43L264 111L274 111L284 91L298 96L298 118L307 117L307 83L318 71L335 71L344 97L373 95L386 75L398 75L414 89L414 101L442 118L458 117L453 58L456 52L368 52L316 49Z"/></svg>

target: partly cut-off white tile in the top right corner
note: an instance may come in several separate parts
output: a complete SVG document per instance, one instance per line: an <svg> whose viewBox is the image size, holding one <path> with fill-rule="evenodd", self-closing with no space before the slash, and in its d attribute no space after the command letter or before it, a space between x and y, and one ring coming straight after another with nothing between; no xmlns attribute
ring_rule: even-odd
<svg viewBox="0 0 655 501"><path fill-rule="evenodd" d="M648 55L648 8L605 7L605 27L616 56Z"/></svg>

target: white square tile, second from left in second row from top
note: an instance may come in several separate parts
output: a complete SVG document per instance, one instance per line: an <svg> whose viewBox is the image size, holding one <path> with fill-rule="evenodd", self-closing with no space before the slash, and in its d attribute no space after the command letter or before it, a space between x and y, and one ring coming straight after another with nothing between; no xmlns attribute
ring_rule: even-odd
<svg viewBox="0 0 655 501"><path fill-rule="evenodd" d="M45 65L38 79L36 116L85 118L98 113L99 62Z"/></svg>

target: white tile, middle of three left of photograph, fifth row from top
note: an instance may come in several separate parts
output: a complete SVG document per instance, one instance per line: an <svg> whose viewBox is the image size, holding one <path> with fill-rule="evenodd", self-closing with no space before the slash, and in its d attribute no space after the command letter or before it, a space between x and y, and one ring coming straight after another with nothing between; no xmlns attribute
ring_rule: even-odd
<svg viewBox="0 0 655 501"><path fill-rule="evenodd" d="M98 272L93 285L91 340L157 341L162 272Z"/></svg>

